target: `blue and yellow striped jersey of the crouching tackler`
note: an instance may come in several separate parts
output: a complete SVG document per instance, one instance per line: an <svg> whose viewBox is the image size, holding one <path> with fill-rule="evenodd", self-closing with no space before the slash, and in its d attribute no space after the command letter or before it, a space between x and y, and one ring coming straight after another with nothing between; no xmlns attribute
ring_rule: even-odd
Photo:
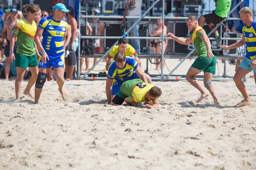
<svg viewBox="0 0 256 170"><path fill-rule="evenodd" d="M116 62L112 62L108 69L108 78L115 79L116 81L126 81L131 76L136 74L134 70L137 69L138 63L131 57L126 57L124 68L118 68Z"/></svg>

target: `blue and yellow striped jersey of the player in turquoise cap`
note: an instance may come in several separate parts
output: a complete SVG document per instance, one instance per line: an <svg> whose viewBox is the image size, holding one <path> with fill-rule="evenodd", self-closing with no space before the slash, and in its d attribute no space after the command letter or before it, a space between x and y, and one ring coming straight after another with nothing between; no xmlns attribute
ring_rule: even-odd
<svg viewBox="0 0 256 170"><path fill-rule="evenodd" d="M55 21L52 16L44 17L40 20L38 26L44 29L43 48L47 53L61 53L64 51L63 37L67 31L67 21Z"/></svg>

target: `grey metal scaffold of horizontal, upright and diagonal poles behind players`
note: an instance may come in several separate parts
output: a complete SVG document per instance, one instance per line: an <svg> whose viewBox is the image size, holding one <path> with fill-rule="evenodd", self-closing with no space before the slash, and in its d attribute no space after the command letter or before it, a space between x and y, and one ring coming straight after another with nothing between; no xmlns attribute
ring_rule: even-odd
<svg viewBox="0 0 256 170"><path fill-rule="evenodd" d="M148 16L145 16L149 10L151 10L151 8L154 7L154 5L156 3L158 3L160 0L156 0L146 11L145 13L141 16L141 17L129 17L129 16L89 16L89 15L81 15L81 4L79 3L79 29L81 29L81 25L80 25L80 20L81 18L107 18L107 19L131 19L131 18L137 18L137 22L139 22L141 19L159 19L161 18L162 19L162 36L160 37L125 37L127 35L127 33L136 25L136 23L134 23L133 26L131 26L131 28L129 28L125 34L123 34L121 37L125 37L127 39L144 39L144 40L148 40L148 39L161 39L162 41L168 39L168 40L172 40L172 38L170 37L165 37L164 36L164 31L163 31L163 26L164 26L164 20L185 20L187 17L166 17L165 14L164 14L164 10L162 11L162 16L161 17L148 17ZM230 13L228 14L228 16L243 2L243 0L241 0L241 2L239 2L231 11ZM163 9L165 8L165 3L163 1L162 3L162 7ZM240 20L239 18L225 18L224 20ZM224 20L221 22L223 23ZM210 31L210 33L208 34L208 36L210 34L212 34L212 32L218 28L219 26L221 26L221 23L217 24L215 26L215 28L212 29L212 31ZM114 37L114 36L79 36L79 48L78 48L78 75L79 75L79 79L81 79L80 77L80 58L81 58L81 54L80 54L80 40L81 39L86 39L86 38L101 38L101 39L119 39L121 37ZM182 37L182 38L185 38L185 37ZM209 40L216 40L215 38L209 38ZM221 38L221 40L241 40L241 38ZM116 41L117 43L118 41ZM116 44L114 43L112 45L111 48L113 48L113 46ZM162 49L164 49L164 43L162 43ZM84 74L84 77L83 79L92 79L92 77L85 77L87 74L90 73L90 71L109 53L109 51L111 50L111 48L108 49L108 51L105 52L105 54L102 55L102 57L92 66L92 68L90 68L89 71L87 71L85 74ZM185 61L185 59L187 59L190 55L192 55L192 53L195 51L195 49L193 49L192 51L189 52L189 54L186 55L186 57L183 58L183 60L167 75L167 76L164 76L163 75L163 69L161 69L161 75L160 75L160 78L152 78L152 80L154 79L157 79L157 80L161 80L161 81L164 81L164 80L171 80L172 78L169 78L169 76ZM151 55L149 54L148 55L149 57L153 57L153 56L159 56L159 55ZM164 51L162 50L162 54L161 54L161 67L163 68L163 60L165 59L164 57ZM104 79L104 78L99 78L97 77L97 79ZM214 79L213 79L214 80ZM219 79L221 80L221 79ZM228 80L228 79L225 79L225 80Z"/></svg>

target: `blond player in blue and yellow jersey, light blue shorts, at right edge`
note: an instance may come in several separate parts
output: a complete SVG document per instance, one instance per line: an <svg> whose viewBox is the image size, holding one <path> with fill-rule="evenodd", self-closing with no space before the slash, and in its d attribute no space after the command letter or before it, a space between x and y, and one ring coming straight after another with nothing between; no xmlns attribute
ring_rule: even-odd
<svg viewBox="0 0 256 170"><path fill-rule="evenodd" d="M241 8L239 14L240 20L245 23L245 26L243 27L242 40L232 45L221 45L221 48L226 51L232 48L241 47L242 45L246 44L246 56L239 65L239 68L233 77L234 82L236 83L236 87L244 97L244 100L235 105L236 107L242 107L251 104L244 82L242 82L241 79L246 74L253 71L254 79L256 80L256 23L253 20L253 12L249 7Z"/></svg>

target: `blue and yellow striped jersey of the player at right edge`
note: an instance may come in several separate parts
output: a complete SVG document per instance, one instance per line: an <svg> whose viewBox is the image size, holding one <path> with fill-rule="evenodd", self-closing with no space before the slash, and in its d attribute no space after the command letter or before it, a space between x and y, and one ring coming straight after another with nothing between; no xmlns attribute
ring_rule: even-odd
<svg viewBox="0 0 256 170"><path fill-rule="evenodd" d="M256 56L256 23L252 22L251 26L247 24L243 27L243 34L246 44L246 58L254 59Z"/></svg>

